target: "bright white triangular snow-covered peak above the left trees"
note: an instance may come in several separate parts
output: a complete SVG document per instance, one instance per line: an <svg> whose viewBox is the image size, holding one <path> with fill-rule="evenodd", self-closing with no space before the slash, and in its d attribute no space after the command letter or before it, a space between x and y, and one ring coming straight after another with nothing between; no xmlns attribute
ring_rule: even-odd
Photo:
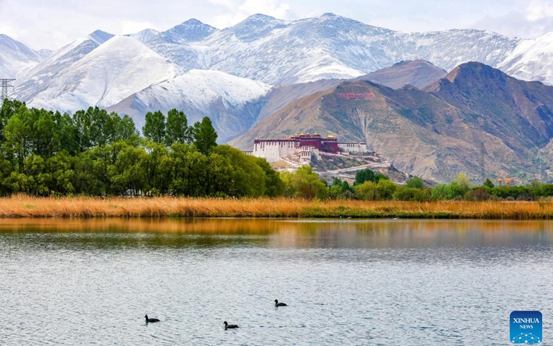
<svg viewBox="0 0 553 346"><path fill-rule="evenodd" d="M109 107L181 72L136 39L115 36L50 80L29 105L62 111Z"/></svg>

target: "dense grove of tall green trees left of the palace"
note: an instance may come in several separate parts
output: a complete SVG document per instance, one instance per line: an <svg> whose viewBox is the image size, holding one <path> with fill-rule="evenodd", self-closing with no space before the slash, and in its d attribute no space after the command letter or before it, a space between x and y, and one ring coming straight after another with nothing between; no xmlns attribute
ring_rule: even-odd
<svg viewBox="0 0 553 346"><path fill-rule="evenodd" d="M279 174L261 158L217 145L211 120L147 113L140 136L129 116L91 107L70 115L4 100L0 194L275 197Z"/></svg>

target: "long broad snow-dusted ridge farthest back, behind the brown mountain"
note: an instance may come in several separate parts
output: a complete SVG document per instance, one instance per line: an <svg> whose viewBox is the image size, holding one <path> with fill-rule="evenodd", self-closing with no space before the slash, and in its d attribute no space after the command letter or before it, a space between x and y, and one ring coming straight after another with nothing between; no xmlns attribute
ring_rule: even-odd
<svg viewBox="0 0 553 346"><path fill-rule="evenodd" d="M171 38L172 51L158 53L176 64L174 52L196 54L205 62L196 66L203 69L293 84L353 78L401 60L427 60L447 71L468 61L496 66L520 41L481 30L400 33L332 14L298 21L254 15L203 41L185 41L182 50Z"/></svg>

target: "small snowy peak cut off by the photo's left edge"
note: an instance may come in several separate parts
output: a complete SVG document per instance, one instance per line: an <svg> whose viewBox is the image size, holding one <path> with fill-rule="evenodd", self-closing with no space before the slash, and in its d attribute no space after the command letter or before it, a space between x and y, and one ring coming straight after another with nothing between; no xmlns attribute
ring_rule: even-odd
<svg viewBox="0 0 553 346"><path fill-rule="evenodd" d="M46 53L46 52L45 52ZM17 78L22 71L44 60L44 55L0 34L0 78Z"/></svg>

